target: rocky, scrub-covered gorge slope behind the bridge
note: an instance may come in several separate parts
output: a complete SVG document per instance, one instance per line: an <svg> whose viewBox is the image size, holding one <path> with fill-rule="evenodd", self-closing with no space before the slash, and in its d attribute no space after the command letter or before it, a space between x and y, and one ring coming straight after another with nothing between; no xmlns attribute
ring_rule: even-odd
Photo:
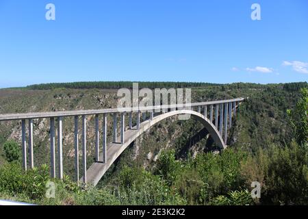
<svg viewBox="0 0 308 219"><path fill-rule="evenodd" d="M90 110L116 107L117 90L100 89L55 89L55 90L0 90L0 113L47 112L57 110ZM192 90L192 102L214 99L231 99L249 96L238 110L233 127L229 131L229 146L255 150L258 146L279 142L280 136L288 136L285 110L292 108L298 97L297 92L277 88L251 89L216 86ZM87 117L88 165L94 160L94 116ZM81 123L79 123L81 125ZM126 116L128 124L128 116ZM73 177L73 118L64 118L64 174ZM112 140L112 117L107 118L108 137ZM80 127L81 128L81 127ZM100 127L101 131L101 127ZM5 162L3 143L8 139L21 142L21 121L0 124L0 165ZM194 157L203 151L215 151L216 146L202 125L190 119L178 120L177 116L155 125L138 138L125 152L109 173L117 171L124 164L153 168L159 153L164 149L175 149L179 159L188 155ZM57 152L57 151L56 151ZM81 151L79 151L81 155ZM80 156L81 157L81 156ZM49 120L34 120L34 164L49 164ZM104 180L106 180L105 177Z"/></svg>

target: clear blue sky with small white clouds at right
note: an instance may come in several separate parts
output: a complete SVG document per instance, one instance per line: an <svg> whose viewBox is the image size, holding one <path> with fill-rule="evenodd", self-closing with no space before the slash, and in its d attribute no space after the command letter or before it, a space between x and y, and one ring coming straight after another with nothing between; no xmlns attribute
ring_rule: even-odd
<svg viewBox="0 0 308 219"><path fill-rule="evenodd" d="M308 79L307 0L0 0L0 27L0 88Z"/></svg>

